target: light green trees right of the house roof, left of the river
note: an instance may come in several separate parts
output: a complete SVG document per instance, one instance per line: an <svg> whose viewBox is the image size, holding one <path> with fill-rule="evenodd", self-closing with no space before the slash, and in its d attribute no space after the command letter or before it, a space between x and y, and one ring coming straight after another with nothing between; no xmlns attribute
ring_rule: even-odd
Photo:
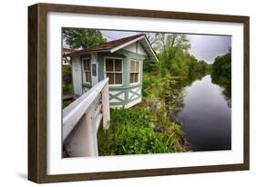
<svg viewBox="0 0 256 187"><path fill-rule="evenodd" d="M162 76L181 77L187 84L211 72L210 64L198 60L189 53L190 44L187 34L156 33L154 42L150 43L154 45L159 56L159 63L145 63L146 72L159 72Z"/></svg>

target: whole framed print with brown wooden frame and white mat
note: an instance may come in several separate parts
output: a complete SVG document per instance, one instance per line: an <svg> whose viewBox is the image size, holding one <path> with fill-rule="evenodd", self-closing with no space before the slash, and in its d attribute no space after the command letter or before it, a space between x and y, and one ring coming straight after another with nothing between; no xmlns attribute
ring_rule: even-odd
<svg viewBox="0 0 256 187"><path fill-rule="evenodd" d="M28 179L249 170L249 17L28 7Z"/></svg>

